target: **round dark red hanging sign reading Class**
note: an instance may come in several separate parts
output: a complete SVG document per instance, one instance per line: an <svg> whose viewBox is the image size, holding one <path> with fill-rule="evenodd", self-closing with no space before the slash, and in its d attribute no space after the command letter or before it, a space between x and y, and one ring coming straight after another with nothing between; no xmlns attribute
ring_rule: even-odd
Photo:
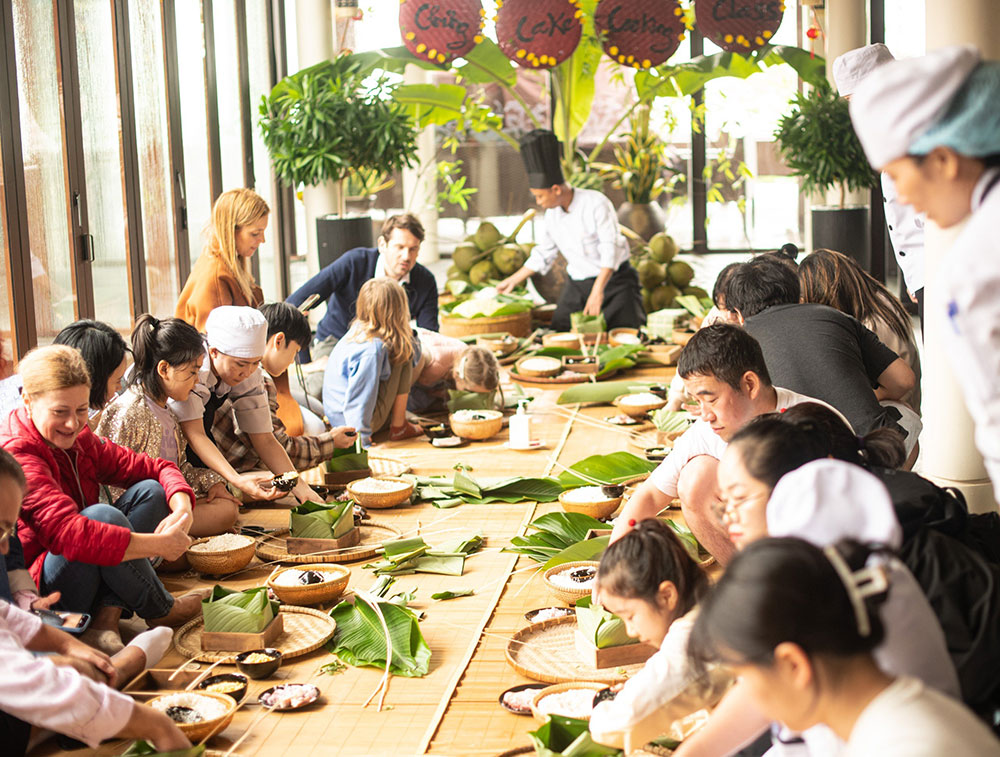
<svg viewBox="0 0 1000 757"><path fill-rule="evenodd" d="M698 30L730 53L759 50L785 15L783 0L695 0Z"/></svg>

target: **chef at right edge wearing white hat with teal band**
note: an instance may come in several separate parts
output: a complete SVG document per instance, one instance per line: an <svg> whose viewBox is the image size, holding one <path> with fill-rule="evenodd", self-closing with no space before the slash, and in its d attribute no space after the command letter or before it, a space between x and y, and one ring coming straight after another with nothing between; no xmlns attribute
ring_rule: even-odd
<svg viewBox="0 0 1000 757"><path fill-rule="evenodd" d="M855 92L851 120L901 202L943 228L971 213L936 275L948 357L1000 494L1000 63L964 45L886 63Z"/></svg>

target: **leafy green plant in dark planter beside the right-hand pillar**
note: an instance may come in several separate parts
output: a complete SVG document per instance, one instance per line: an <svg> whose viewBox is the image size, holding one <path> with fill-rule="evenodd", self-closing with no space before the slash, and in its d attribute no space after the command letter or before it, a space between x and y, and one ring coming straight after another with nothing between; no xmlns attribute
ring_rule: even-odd
<svg viewBox="0 0 1000 757"><path fill-rule="evenodd" d="M877 177L854 133L847 100L819 82L795 96L774 136L792 175L802 178L803 192L839 190L838 205L812 209L813 249L843 252L871 270L868 207L845 206L844 199L847 190L871 189Z"/></svg>

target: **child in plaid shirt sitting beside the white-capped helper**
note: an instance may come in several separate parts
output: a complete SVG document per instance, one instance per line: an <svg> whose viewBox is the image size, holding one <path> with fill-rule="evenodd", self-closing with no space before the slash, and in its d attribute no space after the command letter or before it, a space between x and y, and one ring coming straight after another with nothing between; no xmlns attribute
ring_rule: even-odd
<svg viewBox="0 0 1000 757"><path fill-rule="evenodd" d="M329 460L334 449L353 445L354 429L340 426L315 435L292 436L288 433L285 424L278 418L278 390L274 379L288 370L295 360L295 354L309 344L312 332L305 314L287 302L270 302L262 306L260 312L267 320L267 346L261 360L261 367L264 369L261 373L271 411L274 438L285 448L296 470L307 470ZM237 431L229 403L216 412L212 434L229 464L237 471L242 473L258 470L263 466L250 438Z"/></svg>

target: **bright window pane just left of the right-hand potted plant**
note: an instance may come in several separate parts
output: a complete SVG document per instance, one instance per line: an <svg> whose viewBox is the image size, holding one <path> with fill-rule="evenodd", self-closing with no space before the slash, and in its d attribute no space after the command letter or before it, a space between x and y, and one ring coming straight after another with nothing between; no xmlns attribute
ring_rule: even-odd
<svg viewBox="0 0 1000 757"><path fill-rule="evenodd" d="M771 41L795 45L796 37L796 6L789 3ZM719 51L705 40L706 55ZM786 65L705 86L709 249L801 244L799 182L788 175L774 141L797 86Z"/></svg>

